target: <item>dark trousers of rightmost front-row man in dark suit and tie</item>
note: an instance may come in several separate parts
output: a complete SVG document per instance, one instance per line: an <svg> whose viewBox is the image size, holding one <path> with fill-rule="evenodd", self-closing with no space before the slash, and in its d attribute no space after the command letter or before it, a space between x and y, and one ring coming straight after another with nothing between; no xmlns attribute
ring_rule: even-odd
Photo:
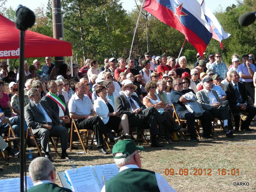
<svg viewBox="0 0 256 192"><path fill-rule="evenodd" d="M236 106L230 102L229 102L229 106L230 106L231 112L234 116L235 126L237 129L239 129L239 123L240 123L239 113L241 113L241 112L248 113L247 119L245 121L242 121L242 124L241 124L241 128L248 128L253 117L256 115L256 108L252 107L251 105L248 104L246 110L244 111L244 110L240 110L240 108L238 106Z"/></svg>

